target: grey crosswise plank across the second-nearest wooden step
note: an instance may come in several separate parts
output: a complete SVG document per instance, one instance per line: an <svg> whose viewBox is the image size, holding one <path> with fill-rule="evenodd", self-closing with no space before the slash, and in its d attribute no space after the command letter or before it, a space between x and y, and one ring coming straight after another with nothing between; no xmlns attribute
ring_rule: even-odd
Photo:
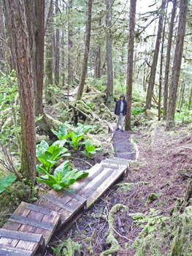
<svg viewBox="0 0 192 256"><path fill-rule="evenodd" d="M34 220L34 219L27 219L25 217L21 217L19 215L15 215L15 214L12 214L12 217L9 218L9 221L19 222L21 224L27 224L27 225L31 225L34 227L41 227L41 228L44 228L47 230L53 230L53 228L54 228L54 225L50 224L48 222L40 222L40 221Z"/></svg>

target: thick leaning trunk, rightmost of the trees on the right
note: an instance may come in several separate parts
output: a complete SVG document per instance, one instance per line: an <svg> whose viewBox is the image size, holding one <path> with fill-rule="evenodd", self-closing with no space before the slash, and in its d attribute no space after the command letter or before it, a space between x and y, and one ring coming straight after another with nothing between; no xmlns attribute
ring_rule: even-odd
<svg viewBox="0 0 192 256"><path fill-rule="evenodd" d="M180 78L180 67L183 55L183 44L185 37L185 25L188 12L188 0L180 1L180 15L177 30L177 42L174 50L174 61L172 67L172 79L169 88L169 105L167 111L167 127L172 127L174 124L174 113L177 102L177 87Z"/></svg>

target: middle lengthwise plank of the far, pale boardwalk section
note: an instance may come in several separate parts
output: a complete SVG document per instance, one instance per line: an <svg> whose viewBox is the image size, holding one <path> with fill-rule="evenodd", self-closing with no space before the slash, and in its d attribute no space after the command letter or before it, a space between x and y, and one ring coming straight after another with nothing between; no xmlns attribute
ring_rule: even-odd
<svg viewBox="0 0 192 256"><path fill-rule="evenodd" d="M99 176L96 176L96 178L93 179L88 185L86 185L83 189L78 192L78 195L85 197L86 199L88 196L91 195L91 193L97 189L115 170L104 168L102 173L99 174Z"/></svg>

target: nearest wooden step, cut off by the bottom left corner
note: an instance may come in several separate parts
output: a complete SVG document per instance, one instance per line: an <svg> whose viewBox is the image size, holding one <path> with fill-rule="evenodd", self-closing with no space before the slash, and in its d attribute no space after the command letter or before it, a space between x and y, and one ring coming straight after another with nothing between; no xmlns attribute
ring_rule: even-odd
<svg viewBox="0 0 192 256"><path fill-rule="evenodd" d="M0 229L0 255L33 256L42 252L45 241L42 235Z"/></svg>

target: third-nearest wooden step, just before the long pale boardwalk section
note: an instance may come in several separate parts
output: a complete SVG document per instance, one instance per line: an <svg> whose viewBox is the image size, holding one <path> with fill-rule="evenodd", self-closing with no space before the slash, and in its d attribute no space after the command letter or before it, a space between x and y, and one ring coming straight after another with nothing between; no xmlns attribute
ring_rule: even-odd
<svg viewBox="0 0 192 256"><path fill-rule="evenodd" d="M57 192L52 189L39 202L39 206L49 208L61 214L62 226L69 219L72 219L78 211L84 211L86 199L69 191L63 190L62 192Z"/></svg>

